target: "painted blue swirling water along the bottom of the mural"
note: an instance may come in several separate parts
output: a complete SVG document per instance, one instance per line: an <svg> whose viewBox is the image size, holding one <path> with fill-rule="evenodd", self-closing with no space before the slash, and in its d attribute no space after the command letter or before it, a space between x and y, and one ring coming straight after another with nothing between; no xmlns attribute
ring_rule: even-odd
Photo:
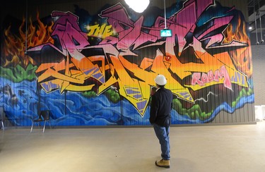
<svg viewBox="0 0 265 172"><path fill-rule="evenodd" d="M29 126L32 119L38 118L37 110L49 109L51 114L51 125L150 125L150 108L146 109L146 114L141 117L138 111L129 101L123 99L118 103L112 103L105 94L98 97L83 97L79 92L66 92L60 94L59 90L46 94L41 90L39 94L35 92L36 81L11 82L0 78L0 106L6 111L6 116L13 125ZM12 95L4 88L11 87L11 90L17 90ZM15 97L14 97L15 95ZM39 102L40 99L40 103ZM177 111L172 110L172 124L189 123L208 123L216 118L220 111L233 113L235 109L240 109L247 103L254 102L254 94L248 97L242 97L240 102L232 108L224 103L218 106L207 120L191 119L189 116L182 116ZM66 106L65 106L66 104ZM82 113L80 113L82 112Z"/></svg>

